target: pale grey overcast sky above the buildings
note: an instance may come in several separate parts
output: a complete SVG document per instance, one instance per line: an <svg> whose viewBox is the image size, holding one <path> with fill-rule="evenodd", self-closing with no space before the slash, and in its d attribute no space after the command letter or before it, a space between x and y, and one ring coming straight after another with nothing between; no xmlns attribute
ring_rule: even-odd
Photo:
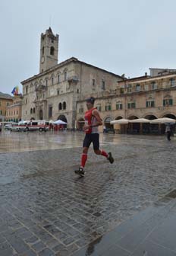
<svg viewBox="0 0 176 256"><path fill-rule="evenodd" d="M118 75L176 69L175 0L0 0L0 91L39 73L40 34L59 34L72 56Z"/></svg>

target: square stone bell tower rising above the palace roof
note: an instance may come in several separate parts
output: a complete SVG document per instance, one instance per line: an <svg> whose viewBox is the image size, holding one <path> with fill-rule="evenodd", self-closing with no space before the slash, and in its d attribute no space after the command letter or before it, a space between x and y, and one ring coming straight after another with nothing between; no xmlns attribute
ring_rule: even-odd
<svg viewBox="0 0 176 256"><path fill-rule="evenodd" d="M44 72L58 64L58 34L52 33L51 27L46 34L41 34L39 72Z"/></svg>

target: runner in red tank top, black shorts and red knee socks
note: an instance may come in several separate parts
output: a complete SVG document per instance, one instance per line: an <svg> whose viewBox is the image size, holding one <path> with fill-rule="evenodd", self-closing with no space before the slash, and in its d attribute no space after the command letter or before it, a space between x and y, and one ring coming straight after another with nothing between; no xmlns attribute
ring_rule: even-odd
<svg viewBox="0 0 176 256"><path fill-rule="evenodd" d="M93 150L96 155L103 155L107 160L112 164L114 158L112 153L105 152L104 150L99 149L99 131L98 126L102 125L102 119L99 115L99 111L96 107L93 107L95 98L90 97L86 99L87 111L85 113L85 124L83 126L83 131L86 133L83 140L83 152L81 156L80 168L75 171L76 174L84 176L84 167L86 165L87 153L90 148L91 142L93 142Z"/></svg>

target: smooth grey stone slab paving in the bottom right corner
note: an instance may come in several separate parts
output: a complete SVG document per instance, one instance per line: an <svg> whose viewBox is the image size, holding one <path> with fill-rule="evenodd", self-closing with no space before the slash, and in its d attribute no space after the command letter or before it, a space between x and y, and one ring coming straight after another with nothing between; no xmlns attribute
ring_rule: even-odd
<svg viewBox="0 0 176 256"><path fill-rule="evenodd" d="M73 256L176 255L176 200L152 204L117 228L97 238ZM167 203L166 203L167 202ZM144 217L143 217L144 216Z"/></svg>

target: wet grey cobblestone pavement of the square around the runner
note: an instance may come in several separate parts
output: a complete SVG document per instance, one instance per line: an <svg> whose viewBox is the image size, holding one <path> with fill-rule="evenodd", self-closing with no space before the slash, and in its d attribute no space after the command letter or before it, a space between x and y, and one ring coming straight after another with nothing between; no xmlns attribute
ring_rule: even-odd
<svg viewBox="0 0 176 256"><path fill-rule="evenodd" d="M176 138L101 135L110 165L83 133L0 136L0 255L71 255L176 187ZM87 254L89 255L89 254Z"/></svg>

